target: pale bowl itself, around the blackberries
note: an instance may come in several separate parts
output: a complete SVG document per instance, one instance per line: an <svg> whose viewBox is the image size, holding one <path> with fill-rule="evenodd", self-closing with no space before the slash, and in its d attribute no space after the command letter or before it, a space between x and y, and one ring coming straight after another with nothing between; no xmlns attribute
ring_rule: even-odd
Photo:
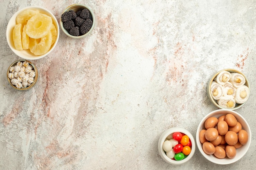
<svg viewBox="0 0 256 170"><path fill-rule="evenodd" d="M71 38L74 38L74 39L81 39L81 38L84 38L86 36L88 36L93 28L94 28L94 25L95 25L95 17L94 17L94 13L92 12L92 9L90 9L89 7L87 7L86 5L83 5L83 4L72 4L70 6L68 6L64 11L63 13L65 13L66 11L70 11L70 10L74 10L75 12L79 11L79 10L83 10L83 9L88 9L90 11L90 19L92 20L92 27L91 29L84 35L80 35L80 36L73 36L73 35L70 35L68 33L68 31L63 27L63 22L62 20L60 19L60 24L61 24L61 29L63 31L63 33L65 33L67 36L71 37ZM62 13L62 14L63 14Z"/></svg>

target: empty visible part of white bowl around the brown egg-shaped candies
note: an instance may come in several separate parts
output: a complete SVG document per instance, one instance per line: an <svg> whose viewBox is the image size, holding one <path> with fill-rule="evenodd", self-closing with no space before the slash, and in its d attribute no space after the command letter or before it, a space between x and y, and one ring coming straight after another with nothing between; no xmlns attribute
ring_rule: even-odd
<svg viewBox="0 0 256 170"><path fill-rule="evenodd" d="M214 155L207 155L206 153L204 153L204 151L202 149L202 144L201 144L200 139L199 139L199 133L202 129L205 129L204 128L204 122L205 122L205 120L207 120L207 118L210 118L210 117L219 118L220 116L226 115L227 113L233 114L236 117L237 121L241 123L243 129L245 131L247 131L247 133L248 133L248 142L245 145L243 145L241 148L236 149L236 156L233 159L229 159L228 157L225 157L223 159L219 159L219 158L215 157ZM239 113L237 113L236 111L230 110L230 109L218 109L218 110L212 111L211 113L207 114L200 121L200 123L198 125L197 132L196 132L195 139L196 139L196 144L198 146L198 149L199 149L200 153L207 160L209 160L213 163L216 163L216 164L227 165L227 164L234 163L234 162L238 161L239 159L241 159L247 153L247 150L249 149L249 147L251 145L252 133L251 133L251 129L249 127L249 124L247 123L245 118L243 118L243 116L241 116Z"/></svg>

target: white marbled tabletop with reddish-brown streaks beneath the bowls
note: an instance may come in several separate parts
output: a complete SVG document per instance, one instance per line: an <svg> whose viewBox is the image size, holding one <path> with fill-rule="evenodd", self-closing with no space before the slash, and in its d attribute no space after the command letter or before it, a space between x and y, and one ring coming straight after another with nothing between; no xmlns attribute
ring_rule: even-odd
<svg viewBox="0 0 256 170"><path fill-rule="evenodd" d="M8 84L9 65L20 59L6 41L11 16L27 6L56 16L74 3L88 5L95 28L84 39L61 32L54 51L32 61L36 85L18 92ZM254 169L255 0L0 0L0 169L165 170ZM181 166L165 163L158 138L182 126L194 135L216 110L207 81L224 68L251 83L236 110L252 131L240 161L211 163L196 149Z"/></svg>

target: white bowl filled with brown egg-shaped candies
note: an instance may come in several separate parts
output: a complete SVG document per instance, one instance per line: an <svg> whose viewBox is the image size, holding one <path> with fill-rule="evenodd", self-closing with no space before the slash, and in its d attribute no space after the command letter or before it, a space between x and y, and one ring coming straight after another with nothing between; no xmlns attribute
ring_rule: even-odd
<svg viewBox="0 0 256 170"><path fill-rule="evenodd" d="M250 126L238 112L218 109L200 121L196 144L209 161L227 165L243 158L252 141Z"/></svg>

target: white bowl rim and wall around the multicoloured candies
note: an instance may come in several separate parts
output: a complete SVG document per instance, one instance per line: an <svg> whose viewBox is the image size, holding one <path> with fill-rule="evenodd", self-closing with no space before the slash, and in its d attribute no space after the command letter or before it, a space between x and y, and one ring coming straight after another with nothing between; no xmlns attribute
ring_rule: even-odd
<svg viewBox="0 0 256 170"><path fill-rule="evenodd" d="M191 140L191 144L192 144L191 153L186 158L184 158L180 161L176 161L176 160L173 160L173 159L170 159L169 157L167 157L166 153L164 152L164 149L163 149L163 144L164 144L164 141L165 141L166 137L168 137L168 135L170 135L174 132L180 132L180 133L184 133L185 135L188 135L189 139ZM167 129L166 131L164 131L162 133L162 135L159 137L158 151L159 151L159 154L162 157L162 159L164 159L164 161L166 161L168 163L171 163L173 165L180 165L182 163L185 163L185 162L189 161L189 159L191 159L193 157L193 155L195 153L195 139L193 138L193 135L189 131L187 131L186 129L183 129L183 128L180 128L180 127L170 128L170 129Z"/></svg>

